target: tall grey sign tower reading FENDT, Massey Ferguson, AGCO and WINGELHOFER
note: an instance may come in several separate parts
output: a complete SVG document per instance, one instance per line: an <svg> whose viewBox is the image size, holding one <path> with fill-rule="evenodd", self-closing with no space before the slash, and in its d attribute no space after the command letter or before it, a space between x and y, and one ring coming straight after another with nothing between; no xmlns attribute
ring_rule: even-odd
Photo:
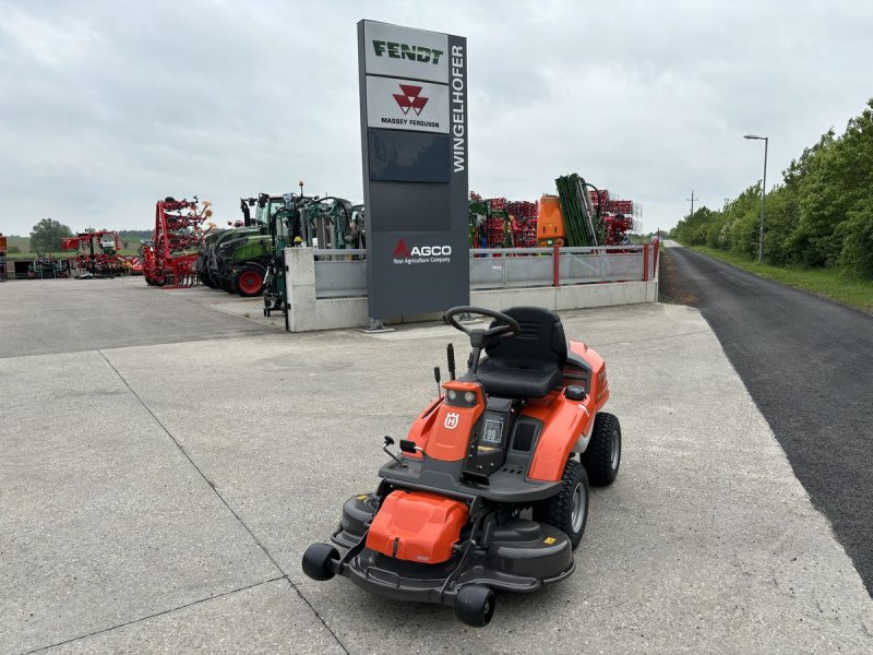
<svg viewBox="0 0 873 655"><path fill-rule="evenodd" d="M467 39L358 23L371 324L469 303Z"/></svg>

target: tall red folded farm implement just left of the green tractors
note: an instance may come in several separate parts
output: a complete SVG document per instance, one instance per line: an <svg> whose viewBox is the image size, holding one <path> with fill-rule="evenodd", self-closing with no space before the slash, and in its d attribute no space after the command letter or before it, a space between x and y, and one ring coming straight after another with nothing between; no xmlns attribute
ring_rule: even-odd
<svg viewBox="0 0 873 655"><path fill-rule="evenodd" d="M140 248L143 275L152 286L189 287L196 284L202 223L212 216L208 201L166 198L155 205L155 231Z"/></svg>

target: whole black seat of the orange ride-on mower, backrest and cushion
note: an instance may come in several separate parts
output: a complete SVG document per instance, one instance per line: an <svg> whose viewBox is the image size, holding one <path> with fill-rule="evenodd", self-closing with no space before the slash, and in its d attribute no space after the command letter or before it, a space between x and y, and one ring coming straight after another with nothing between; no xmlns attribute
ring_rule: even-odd
<svg viewBox="0 0 873 655"><path fill-rule="evenodd" d="M505 397L540 398L560 386L566 360L566 337L560 317L541 307L505 310L522 333L486 346L476 377L487 393Z"/></svg>

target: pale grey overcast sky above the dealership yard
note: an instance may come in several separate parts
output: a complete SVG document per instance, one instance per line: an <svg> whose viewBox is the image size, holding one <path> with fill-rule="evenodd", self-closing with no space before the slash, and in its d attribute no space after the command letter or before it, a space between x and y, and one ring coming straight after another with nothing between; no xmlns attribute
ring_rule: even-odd
<svg viewBox="0 0 873 655"><path fill-rule="evenodd" d="M468 38L470 189L578 172L646 231L768 186L873 96L873 2L0 0L0 231L146 229L166 195L362 198L356 23Z"/></svg>

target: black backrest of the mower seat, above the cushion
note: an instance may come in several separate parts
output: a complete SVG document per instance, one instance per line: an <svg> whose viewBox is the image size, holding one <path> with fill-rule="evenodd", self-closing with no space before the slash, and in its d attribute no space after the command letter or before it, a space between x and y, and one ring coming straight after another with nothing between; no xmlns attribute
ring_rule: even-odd
<svg viewBox="0 0 873 655"><path fill-rule="evenodd" d="M566 337L561 318L541 307L513 307L503 311L522 326L522 333L506 336L486 346L488 358L504 366L538 362L563 368Z"/></svg>

